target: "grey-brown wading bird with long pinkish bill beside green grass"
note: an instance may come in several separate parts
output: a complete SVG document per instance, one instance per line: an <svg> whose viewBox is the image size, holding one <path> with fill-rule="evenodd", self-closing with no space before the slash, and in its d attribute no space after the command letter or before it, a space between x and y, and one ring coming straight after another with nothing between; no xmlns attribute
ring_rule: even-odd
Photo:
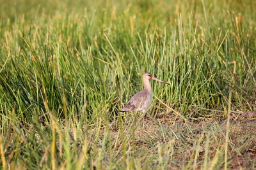
<svg viewBox="0 0 256 170"><path fill-rule="evenodd" d="M152 101L152 88L149 80L156 80L161 83L166 83L155 78L151 73L144 73L142 78L144 89L132 96L128 103L125 104L125 106L120 110L120 113L136 111L142 111L145 113L147 111L147 108ZM170 85L170 83L166 84Z"/></svg>

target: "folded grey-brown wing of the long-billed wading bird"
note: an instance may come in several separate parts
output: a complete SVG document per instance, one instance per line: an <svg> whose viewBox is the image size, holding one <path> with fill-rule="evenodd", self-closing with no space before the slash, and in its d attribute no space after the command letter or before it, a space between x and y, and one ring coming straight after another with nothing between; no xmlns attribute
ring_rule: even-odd
<svg viewBox="0 0 256 170"><path fill-rule="evenodd" d="M122 108L120 111L138 111L141 107L145 105L147 102L147 92L142 90L141 92L138 92L134 96L131 97L131 99L128 101L127 104L125 104L124 108Z"/></svg>

